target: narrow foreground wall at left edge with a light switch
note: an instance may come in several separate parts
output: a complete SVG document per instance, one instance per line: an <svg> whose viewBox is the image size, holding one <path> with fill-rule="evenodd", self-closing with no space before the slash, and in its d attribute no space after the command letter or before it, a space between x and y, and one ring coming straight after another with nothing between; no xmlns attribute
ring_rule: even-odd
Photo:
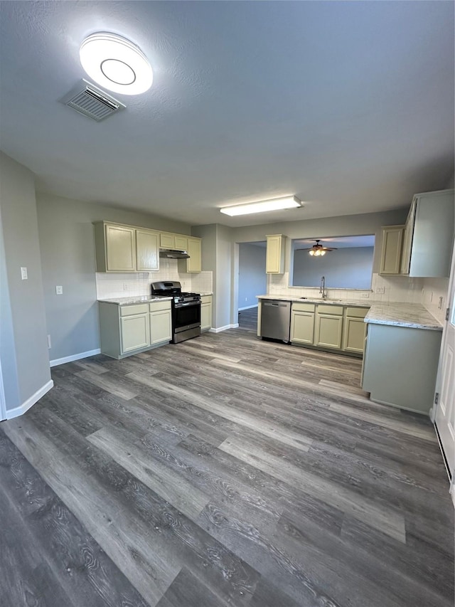
<svg viewBox="0 0 455 607"><path fill-rule="evenodd" d="M6 411L11 411L48 384L50 369L34 177L1 152L0 204L0 356ZM28 280L21 280L21 267Z"/></svg>

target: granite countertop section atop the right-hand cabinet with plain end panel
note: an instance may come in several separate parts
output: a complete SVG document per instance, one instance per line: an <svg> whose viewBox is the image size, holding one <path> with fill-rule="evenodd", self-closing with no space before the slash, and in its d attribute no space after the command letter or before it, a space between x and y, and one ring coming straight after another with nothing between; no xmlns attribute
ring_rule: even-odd
<svg viewBox="0 0 455 607"><path fill-rule="evenodd" d="M376 302L365 316L365 322L442 331L442 324L422 304Z"/></svg>

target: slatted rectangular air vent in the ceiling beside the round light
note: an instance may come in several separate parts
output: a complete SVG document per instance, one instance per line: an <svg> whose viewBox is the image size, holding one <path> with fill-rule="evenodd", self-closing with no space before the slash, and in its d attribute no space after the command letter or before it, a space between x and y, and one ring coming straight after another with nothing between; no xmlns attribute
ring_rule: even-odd
<svg viewBox="0 0 455 607"><path fill-rule="evenodd" d="M87 80L81 80L60 102L97 122L127 107Z"/></svg>

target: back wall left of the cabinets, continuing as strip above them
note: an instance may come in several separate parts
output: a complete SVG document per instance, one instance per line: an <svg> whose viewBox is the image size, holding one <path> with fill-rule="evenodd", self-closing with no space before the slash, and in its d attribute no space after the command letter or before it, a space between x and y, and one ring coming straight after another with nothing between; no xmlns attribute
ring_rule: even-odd
<svg viewBox="0 0 455 607"><path fill-rule="evenodd" d="M100 347L93 221L189 234L186 223L111 206L37 194L45 314L55 361ZM63 295L55 295L55 286Z"/></svg>

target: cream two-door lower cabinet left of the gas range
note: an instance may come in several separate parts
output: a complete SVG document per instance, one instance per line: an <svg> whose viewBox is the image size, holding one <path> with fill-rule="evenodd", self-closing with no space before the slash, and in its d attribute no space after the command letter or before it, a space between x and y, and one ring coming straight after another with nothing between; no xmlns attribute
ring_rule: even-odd
<svg viewBox="0 0 455 607"><path fill-rule="evenodd" d="M122 359L172 339L171 301L119 305L98 302L101 352Z"/></svg>

